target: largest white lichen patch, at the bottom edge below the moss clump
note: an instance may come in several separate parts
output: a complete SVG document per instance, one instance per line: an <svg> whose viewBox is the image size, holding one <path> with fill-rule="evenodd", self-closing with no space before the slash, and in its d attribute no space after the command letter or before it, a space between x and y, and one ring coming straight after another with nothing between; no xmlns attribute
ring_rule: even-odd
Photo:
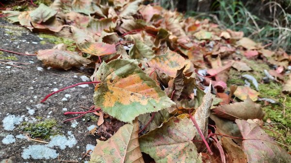
<svg viewBox="0 0 291 163"><path fill-rule="evenodd" d="M51 149L44 145L32 145L25 148L22 153L23 159L55 159L58 157L55 149Z"/></svg>

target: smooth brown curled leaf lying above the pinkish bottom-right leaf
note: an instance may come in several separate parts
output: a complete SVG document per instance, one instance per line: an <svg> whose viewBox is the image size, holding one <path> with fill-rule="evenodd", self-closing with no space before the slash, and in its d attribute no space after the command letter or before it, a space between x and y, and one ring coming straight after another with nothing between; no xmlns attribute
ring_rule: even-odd
<svg viewBox="0 0 291 163"><path fill-rule="evenodd" d="M264 112L260 104L254 103L249 97L240 103L224 104L212 109L219 117L226 119L263 119Z"/></svg>

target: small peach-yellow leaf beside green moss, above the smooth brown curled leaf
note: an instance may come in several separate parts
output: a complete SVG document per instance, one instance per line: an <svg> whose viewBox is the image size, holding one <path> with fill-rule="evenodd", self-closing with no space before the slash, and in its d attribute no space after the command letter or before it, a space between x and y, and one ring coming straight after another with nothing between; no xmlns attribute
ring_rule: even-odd
<svg viewBox="0 0 291 163"><path fill-rule="evenodd" d="M253 101L257 101L259 92L249 87L238 86L238 88L234 92L234 95L241 100L246 100L247 96L249 96L249 98L252 99Z"/></svg>

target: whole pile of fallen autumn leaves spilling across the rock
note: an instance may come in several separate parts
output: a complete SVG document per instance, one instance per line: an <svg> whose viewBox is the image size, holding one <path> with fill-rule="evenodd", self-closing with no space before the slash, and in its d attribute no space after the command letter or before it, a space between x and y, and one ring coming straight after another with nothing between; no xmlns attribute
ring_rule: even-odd
<svg viewBox="0 0 291 163"><path fill-rule="evenodd" d="M95 68L103 129L92 133L106 141L97 140L90 163L291 163L261 128L264 112L255 102L274 100L259 96L256 78L244 74L244 86L226 85L230 69L252 71L242 58L259 59L274 67L263 82L284 84L289 74L282 89L289 94L291 56L283 50L143 0L55 0L2 14L74 39L74 52L64 44L39 50L46 66ZM116 133L104 133L110 124Z"/></svg>

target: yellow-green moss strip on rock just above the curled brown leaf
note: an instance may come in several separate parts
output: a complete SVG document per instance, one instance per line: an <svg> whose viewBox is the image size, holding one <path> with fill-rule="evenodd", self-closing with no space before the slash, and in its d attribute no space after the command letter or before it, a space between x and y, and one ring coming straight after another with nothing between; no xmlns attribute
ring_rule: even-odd
<svg viewBox="0 0 291 163"><path fill-rule="evenodd" d="M63 37L57 37L54 35L49 35L49 34L39 34L39 37L42 37L45 39L45 41L48 41L49 43L52 44L65 44L67 45L67 50L70 51L75 51L75 48L77 47L75 44L75 41L72 39L68 38L63 38ZM44 44L45 42L42 42L41 44Z"/></svg>

